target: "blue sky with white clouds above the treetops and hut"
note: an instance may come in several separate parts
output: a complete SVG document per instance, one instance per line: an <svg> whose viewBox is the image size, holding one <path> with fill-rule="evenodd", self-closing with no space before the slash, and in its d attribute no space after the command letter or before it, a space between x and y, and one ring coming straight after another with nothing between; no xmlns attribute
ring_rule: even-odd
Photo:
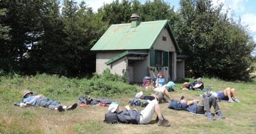
<svg viewBox="0 0 256 134"><path fill-rule="evenodd" d="M76 0L77 3L81 3L83 0ZM113 0L84 0L88 7L92 7L93 11L97 12L104 3L112 3ZM122 1L122 0L119 0ZM141 3L145 3L147 0L139 0ZM153 0L151 0L153 1ZM180 0L164 0L164 2L174 6L175 10L179 10ZM248 26L250 29L250 35L256 42L256 0L212 0L214 4L224 3L224 9L230 9L234 11L236 20L241 19L243 26ZM256 47L255 47L256 53Z"/></svg>

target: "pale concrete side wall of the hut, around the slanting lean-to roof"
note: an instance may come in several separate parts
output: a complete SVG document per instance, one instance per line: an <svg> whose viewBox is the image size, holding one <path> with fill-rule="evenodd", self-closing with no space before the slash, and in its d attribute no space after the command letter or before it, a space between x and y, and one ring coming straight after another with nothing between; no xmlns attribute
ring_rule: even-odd
<svg viewBox="0 0 256 134"><path fill-rule="evenodd" d="M96 72L102 73L106 68L109 68L111 73L123 75L128 66L127 60L124 60L124 58L116 61L112 65L109 64L109 66L105 64L106 61L109 61L109 59L112 59L118 54L121 54L121 52L98 52L96 55Z"/></svg>

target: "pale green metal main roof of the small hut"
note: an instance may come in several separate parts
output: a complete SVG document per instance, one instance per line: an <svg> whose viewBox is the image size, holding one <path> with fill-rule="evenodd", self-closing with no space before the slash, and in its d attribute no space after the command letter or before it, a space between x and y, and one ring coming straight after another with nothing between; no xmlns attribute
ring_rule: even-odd
<svg viewBox="0 0 256 134"><path fill-rule="evenodd" d="M137 27L113 24L95 43L91 50L140 50L150 49L161 31L167 27L173 43L180 52L168 20L141 22Z"/></svg>

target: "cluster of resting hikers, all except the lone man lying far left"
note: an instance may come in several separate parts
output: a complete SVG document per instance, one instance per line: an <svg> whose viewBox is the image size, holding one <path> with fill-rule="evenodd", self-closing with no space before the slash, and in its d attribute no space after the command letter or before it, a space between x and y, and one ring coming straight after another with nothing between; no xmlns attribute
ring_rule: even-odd
<svg viewBox="0 0 256 134"><path fill-rule="evenodd" d="M167 119L164 119L163 113L161 113L159 103L163 100L164 95L168 97L168 102L172 103L172 98L169 91L175 91L174 82L168 82L165 84L165 79L163 73L159 73L156 79L156 87L154 91L156 93L152 95L143 95L142 92L136 94L136 98L143 100L150 100L147 107L145 107L141 112L138 110L131 110L129 105L125 106L126 110L122 110L117 103L111 103L109 105L109 112L115 112L118 115L118 119L122 123L132 123L132 124L147 124L150 123L154 112L157 114L157 119L159 120L159 126L170 126L170 123ZM203 90L204 83L202 78L197 78L195 82L184 83L180 89L183 90ZM232 99L234 97L234 99ZM180 98L179 105L182 107L182 110L187 110L195 114L204 114L207 119L215 119L214 115L217 115L221 119L224 119L225 116L222 114L220 107L218 106L219 100L227 100L228 102L240 102L236 97L236 89L228 87L224 91L212 92L209 91L202 100L191 100L187 101L184 97ZM211 107L214 108L214 114L211 113Z"/></svg>

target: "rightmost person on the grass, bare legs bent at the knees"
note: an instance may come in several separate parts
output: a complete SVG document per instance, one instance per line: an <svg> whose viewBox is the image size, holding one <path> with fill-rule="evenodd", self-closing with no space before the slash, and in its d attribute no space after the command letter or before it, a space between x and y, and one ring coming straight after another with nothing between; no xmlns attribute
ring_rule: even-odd
<svg viewBox="0 0 256 134"><path fill-rule="evenodd" d="M212 96L218 98L219 100L226 100L228 102L241 102L237 99L236 89L227 87L224 91L212 92ZM232 99L234 97L234 100Z"/></svg>

